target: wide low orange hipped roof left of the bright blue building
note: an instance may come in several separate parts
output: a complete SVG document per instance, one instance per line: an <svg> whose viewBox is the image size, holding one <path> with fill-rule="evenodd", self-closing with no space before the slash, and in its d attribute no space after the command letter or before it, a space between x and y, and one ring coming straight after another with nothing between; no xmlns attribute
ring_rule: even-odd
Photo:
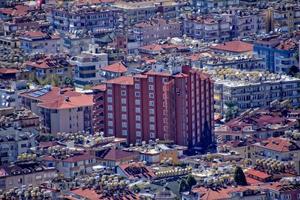
<svg viewBox="0 0 300 200"><path fill-rule="evenodd" d="M247 42L236 40L236 41L225 42L223 44L218 44L216 46L211 46L210 48L214 50L243 53L243 52L252 51L253 45Z"/></svg>

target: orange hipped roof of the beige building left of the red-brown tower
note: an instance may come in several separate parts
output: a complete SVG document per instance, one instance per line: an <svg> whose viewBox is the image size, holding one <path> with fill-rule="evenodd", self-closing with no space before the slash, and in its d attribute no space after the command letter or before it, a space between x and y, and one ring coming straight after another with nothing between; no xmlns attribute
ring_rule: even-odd
<svg viewBox="0 0 300 200"><path fill-rule="evenodd" d="M59 98L48 101L44 103L38 104L38 106L47 109L70 109L70 108L77 108L77 107L86 107L92 106L93 96L92 95L85 95L82 94L80 96L60 96Z"/></svg>

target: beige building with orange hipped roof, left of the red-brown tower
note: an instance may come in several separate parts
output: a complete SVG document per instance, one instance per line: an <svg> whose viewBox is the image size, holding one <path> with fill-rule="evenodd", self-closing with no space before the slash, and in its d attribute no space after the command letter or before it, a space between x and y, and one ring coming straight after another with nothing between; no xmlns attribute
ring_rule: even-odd
<svg viewBox="0 0 300 200"><path fill-rule="evenodd" d="M93 97L70 89L46 87L20 94L20 105L41 117L46 133L92 132Z"/></svg>

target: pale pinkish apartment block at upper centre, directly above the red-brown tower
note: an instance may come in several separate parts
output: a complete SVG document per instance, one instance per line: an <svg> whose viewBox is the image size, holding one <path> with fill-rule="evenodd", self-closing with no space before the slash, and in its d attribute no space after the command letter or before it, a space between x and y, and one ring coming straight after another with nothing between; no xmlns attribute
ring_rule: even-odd
<svg viewBox="0 0 300 200"><path fill-rule="evenodd" d="M181 23L178 21L154 19L138 23L133 27L133 37L140 43L140 46L151 44L159 39L181 35Z"/></svg>

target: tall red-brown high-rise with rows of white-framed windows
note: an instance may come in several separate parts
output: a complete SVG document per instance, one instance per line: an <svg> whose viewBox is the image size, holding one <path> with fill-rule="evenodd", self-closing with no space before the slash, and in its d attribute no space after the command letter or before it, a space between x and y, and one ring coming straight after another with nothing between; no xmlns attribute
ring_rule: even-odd
<svg viewBox="0 0 300 200"><path fill-rule="evenodd" d="M118 77L107 81L105 98L107 136L202 148L213 141L213 82L199 70Z"/></svg>

